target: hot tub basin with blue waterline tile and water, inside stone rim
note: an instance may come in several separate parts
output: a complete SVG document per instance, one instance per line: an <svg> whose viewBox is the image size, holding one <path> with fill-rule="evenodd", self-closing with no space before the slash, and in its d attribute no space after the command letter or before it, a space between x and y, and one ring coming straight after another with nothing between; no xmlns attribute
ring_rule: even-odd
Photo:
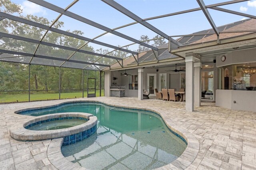
<svg viewBox="0 0 256 170"><path fill-rule="evenodd" d="M84 117L57 117L32 123L25 127L25 129L34 131L48 131L56 129L64 129L74 127L86 123L88 119Z"/></svg>

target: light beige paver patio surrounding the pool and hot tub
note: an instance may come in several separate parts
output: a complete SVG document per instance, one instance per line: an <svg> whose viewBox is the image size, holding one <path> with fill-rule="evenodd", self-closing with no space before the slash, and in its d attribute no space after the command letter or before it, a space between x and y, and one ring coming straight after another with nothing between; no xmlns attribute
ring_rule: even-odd
<svg viewBox="0 0 256 170"><path fill-rule="evenodd" d="M178 127L192 133L200 143L200 150L187 169L256 170L256 112L230 110L206 102L202 102L201 107L195 107L196 111L188 112L185 110L185 102L155 99L140 101L128 97L118 100L98 97L0 105L1 169L56 169L47 157L51 140L16 141L10 137L8 130L15 127L17 122L33 118L14 114L15 110L74 100L95 100L118 106L148 108L168 117Z"/></svg>

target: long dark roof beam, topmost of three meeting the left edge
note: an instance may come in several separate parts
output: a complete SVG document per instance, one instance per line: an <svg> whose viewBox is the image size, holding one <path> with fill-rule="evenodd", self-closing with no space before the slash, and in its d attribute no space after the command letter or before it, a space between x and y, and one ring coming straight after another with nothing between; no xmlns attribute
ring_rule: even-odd
<svg viewBox="0 0 256 170"><path fill-rule="evenodd" d="M20 23L25 23L27 25L31 25L31 26L38 27L38 28L41 28L41 29L46 29L48 31L52 31L52 32L55 32L55 33L67 35L69 37L73 37L73 38L81 39L81 40L84 40L84 41L88 41L90 43L102 45L102 46L105 46L105 47L109 47L109 48L112 48L112 49L117 49L117 50L124 51L124 52L127 52L127 53L132 53L132 54L135 54L135 55L138 54L138 53L136 53L134 51L130 51L130 50L127 50L127 49L122 49L122 48L116 47L114 45L110 45L110 44L107 44L107 43L102 43L100 41L92 40L90 38L83 37L81 35L76 35L74 33L63 31L61 29L56 29L54 27L49 27L47 25L43 25L41 23L37 23L37 22L34 22L34 21L26 20L24 18L16 17L16 16L13 16L13 15L10 15L10 14L6 14L4 12L0 12L0 16L8 18L9 20L17 21L17 22L20 22Z"/></svg>

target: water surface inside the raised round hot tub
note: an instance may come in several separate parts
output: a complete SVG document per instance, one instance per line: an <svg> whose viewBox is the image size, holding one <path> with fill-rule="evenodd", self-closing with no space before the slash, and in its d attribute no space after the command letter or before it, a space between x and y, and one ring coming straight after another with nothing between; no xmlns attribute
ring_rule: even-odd
<svg viewBox="0 0 256 170"><path fill-rule="evenodd" d="M48 130L74 127L77 125L81 125L85 122L86 120L82 120L82 119L61 119L61 120L54 120L54 121L39 123L37 125L28 127L27 129L34 130L34 131L48 131Z"/></svg>

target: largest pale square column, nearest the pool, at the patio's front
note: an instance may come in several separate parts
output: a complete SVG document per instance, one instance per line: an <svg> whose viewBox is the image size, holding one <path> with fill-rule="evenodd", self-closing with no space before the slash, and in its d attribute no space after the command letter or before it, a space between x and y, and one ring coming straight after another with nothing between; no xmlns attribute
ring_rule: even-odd
<svg viewBox="0 0 256 170"><path fill-rule="evenodd" d="M186 111L194 111L194 62L193 56L185 58L186 62Z"/></svg>

